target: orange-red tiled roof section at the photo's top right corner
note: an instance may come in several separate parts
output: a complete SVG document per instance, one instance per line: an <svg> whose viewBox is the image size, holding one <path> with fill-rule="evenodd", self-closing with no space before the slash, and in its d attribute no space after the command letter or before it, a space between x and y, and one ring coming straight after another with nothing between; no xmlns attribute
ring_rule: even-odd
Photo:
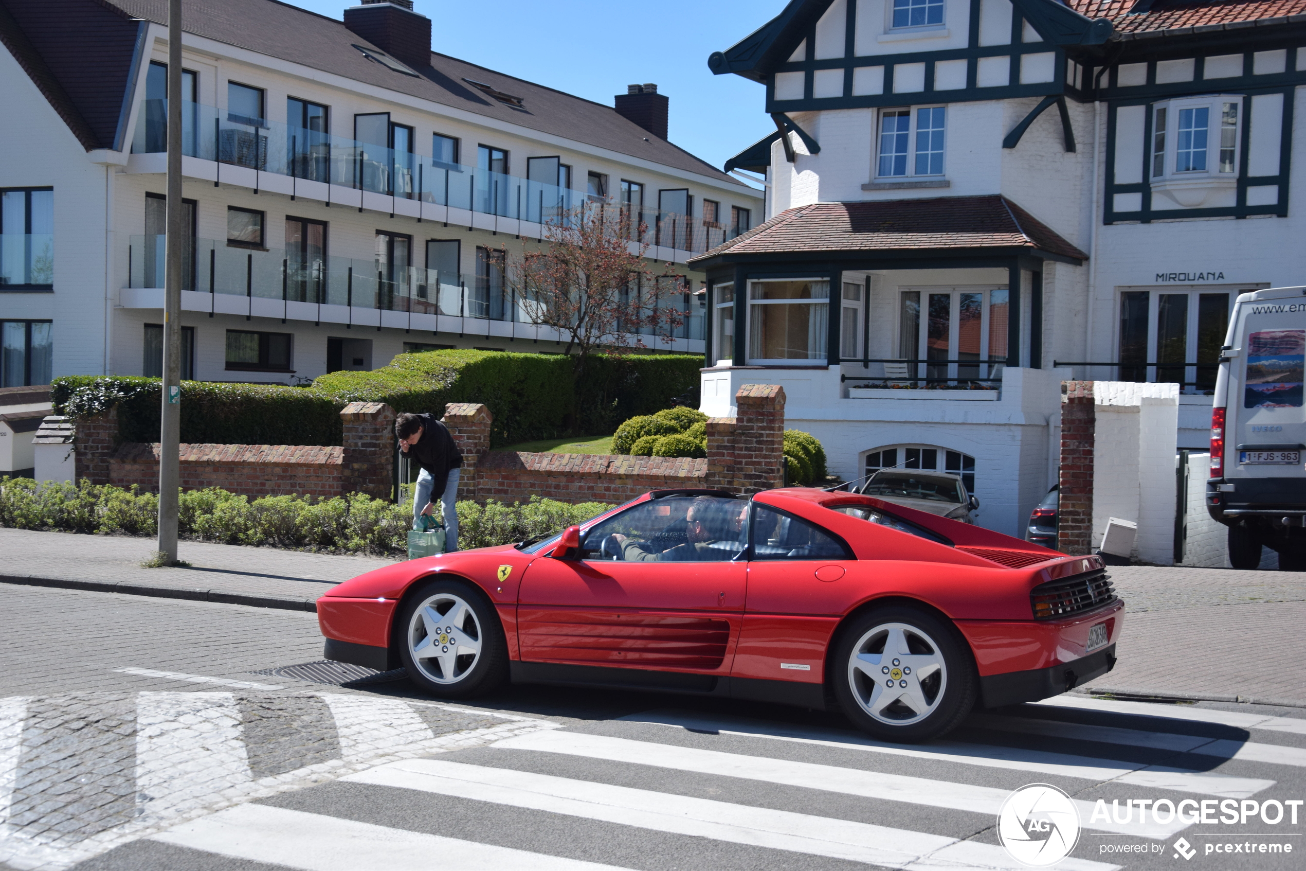
<svg viewBox="0 0 1306 871"><path fill-rule="evenodd" d="M1284 24L1293 16L1306 21L1306 0L1066 0L1088 18L1110 18L1118 38L1160 35L1168 30L1225 30ZM1138 9L1136 14L1130 14Z"/></svg>

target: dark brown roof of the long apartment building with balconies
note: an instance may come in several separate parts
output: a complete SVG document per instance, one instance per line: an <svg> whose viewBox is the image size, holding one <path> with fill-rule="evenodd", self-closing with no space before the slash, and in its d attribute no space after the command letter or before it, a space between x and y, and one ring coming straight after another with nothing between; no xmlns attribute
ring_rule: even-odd
<svg viewBox="0 0 1306 871"><path fill-rule="evenodd" d="M24 51L20 43L26 38L26 54L33 63L25 68L46 98L88 149L112 148L138 26L132 18L166 25L167 0L0 0L0 13L5 9L16 24L7 29L0 14L0 40L18 56ZM717 167L618 115L611 106L438 54L431 55L431 67L418 71L421 76L405 76L368 60L354 48L355 44L371 46L345 27L343 21L286 3L184 0L182 20L187 33L229 46L697 172L727 182L741 192L747 189ZM7 30L14 33L7 34ZM547 63L547 52L542 54L542 63ZM522 106L515 108L500 103L468 85L465 78L521 97ZM60 87L64 93L57 93ZM620 85L614 82L613 93L618 90Z"/></svg>

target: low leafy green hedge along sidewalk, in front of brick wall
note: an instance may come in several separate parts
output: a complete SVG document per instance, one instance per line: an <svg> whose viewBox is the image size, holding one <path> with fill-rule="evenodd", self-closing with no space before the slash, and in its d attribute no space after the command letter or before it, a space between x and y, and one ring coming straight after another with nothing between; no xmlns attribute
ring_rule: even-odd
<svg viewBox="0 0 1306 871"><path fill-rule="evenodd" d="M562 531L611 505L571 505L532 496L526 504L458 503L458 545L464 550L520 542ZM80 482L38 484L30 478L0 478L0 526L111 535L158 534L158 496L136 487ZM362 494L248 496L218 490L183 491L178 533L223 545L404 556L413 509L409 504Z"/></svg>

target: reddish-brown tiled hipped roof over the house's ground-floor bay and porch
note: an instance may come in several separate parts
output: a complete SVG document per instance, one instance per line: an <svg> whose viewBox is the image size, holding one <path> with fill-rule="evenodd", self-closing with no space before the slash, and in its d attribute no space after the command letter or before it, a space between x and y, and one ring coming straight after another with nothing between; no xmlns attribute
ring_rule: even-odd
<svg viewBox="0 0 1306 871"><path fill-rule="evenodd" d="M1007 197L818 202L781 212L697 261L721 255L1028 248L1075 260L1088 255Z"/></svg>

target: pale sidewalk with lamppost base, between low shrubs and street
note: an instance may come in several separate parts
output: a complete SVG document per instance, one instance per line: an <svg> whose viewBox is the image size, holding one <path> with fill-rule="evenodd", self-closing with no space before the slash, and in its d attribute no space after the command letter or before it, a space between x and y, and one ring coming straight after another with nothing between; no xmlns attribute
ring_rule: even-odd
<svg viewBox="0 0 1306 871"><path fill-rule="evenodd" d="M394 562L183 541L188 568L141 568L154 551L153 538L0 529L0 582L316 611L330 588Z"/></svg>

